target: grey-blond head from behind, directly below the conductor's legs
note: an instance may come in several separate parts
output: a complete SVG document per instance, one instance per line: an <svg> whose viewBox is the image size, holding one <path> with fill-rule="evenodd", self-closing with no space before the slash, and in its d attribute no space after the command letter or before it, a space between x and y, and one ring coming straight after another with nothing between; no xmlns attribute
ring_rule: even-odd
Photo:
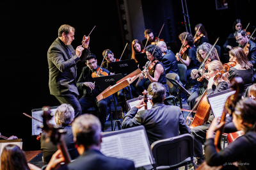
<svg viewBox="0 0 256 170"><path fill-rule="evenodd" d="M57 125L67 127L74 120L75 111L70 104L61 104L55 112L55 121Z"/></svg>

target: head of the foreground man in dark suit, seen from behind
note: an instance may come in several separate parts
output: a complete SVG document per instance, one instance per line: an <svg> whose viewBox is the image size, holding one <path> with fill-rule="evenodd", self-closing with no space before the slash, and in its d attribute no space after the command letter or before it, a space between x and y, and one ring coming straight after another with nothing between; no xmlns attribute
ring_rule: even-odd
<svg viewBox="0 0 256 170"><path fill-rule="evenodd" d="M102 138L100 130L100 121L93 114L83 114L72 123L74 141L78 146L83 145L84 148L100 146Z"/></svg>

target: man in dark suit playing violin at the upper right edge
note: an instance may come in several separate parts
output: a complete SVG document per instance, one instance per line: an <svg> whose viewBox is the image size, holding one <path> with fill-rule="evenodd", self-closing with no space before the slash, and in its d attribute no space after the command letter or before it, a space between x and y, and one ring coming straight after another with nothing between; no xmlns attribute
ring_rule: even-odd
<svg viewBox="0 0 256 170"><path fill-rule="evenodd" d="M252 40L249 40L246 32L244 30L238 29L235 33L234 36L239 43L239 47L244 48L246 43L250 44L249 47L249 53L247 55L248 60L250 63L252 63L253 68L256 68L256 44Z"/></svg>

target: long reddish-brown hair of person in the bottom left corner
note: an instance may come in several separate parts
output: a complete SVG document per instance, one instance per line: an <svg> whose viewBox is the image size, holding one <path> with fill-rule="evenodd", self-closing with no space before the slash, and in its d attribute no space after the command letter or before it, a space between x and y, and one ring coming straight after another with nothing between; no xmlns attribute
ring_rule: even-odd
<svg viewBox="0 0 256 170"><path fill-rule="evenodd" d="M1 170L30 170L23 150L15 144L4 147L1 155Z"/></svg>

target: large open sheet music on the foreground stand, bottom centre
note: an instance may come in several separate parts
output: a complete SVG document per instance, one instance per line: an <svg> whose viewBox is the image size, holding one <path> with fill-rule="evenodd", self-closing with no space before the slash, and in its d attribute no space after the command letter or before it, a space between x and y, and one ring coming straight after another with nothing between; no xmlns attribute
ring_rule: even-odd
<svg viewBox="0 0 256 170"><path fill-rule="evenodd" d="M100 151L107 157L132 160L135 167L153 163L144 130L103 137Z"/></svg>

